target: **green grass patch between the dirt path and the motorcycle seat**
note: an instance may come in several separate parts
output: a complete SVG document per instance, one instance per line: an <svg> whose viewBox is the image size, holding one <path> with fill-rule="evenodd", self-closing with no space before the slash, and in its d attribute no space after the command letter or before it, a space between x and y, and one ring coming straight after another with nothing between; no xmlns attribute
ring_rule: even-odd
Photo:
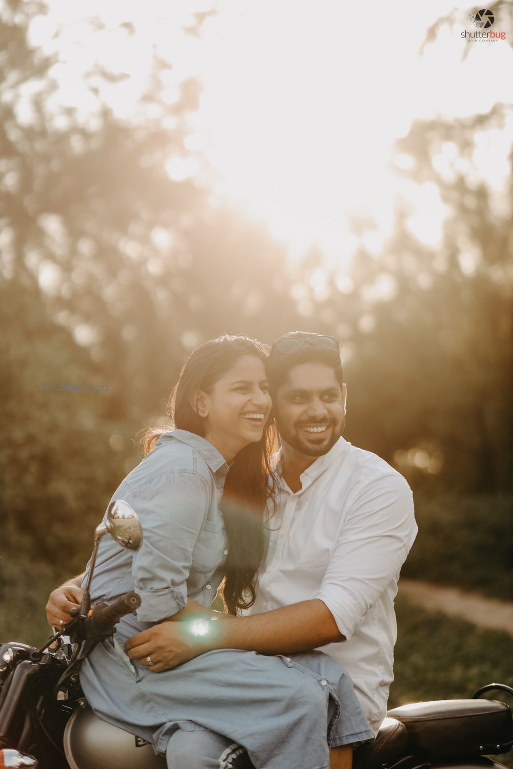
<svg viewBox="0 0 513 769"><path fill-rule="evenodd" d="M478 630L468 622L418 608L402 597L395 608L398 641L389 708L409 702L468 699L492 681L513 686L510 635ZM487 696L513 704L505 692ZM511 753L491 758L513 767Z"/></svg>

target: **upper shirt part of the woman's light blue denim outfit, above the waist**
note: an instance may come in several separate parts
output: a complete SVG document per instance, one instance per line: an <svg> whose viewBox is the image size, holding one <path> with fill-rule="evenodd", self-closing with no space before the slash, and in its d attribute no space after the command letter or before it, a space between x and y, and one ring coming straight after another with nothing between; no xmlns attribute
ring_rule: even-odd
<svg viewBox="0 0 513 769"><path fill-rule="evenodd" d="M108 535L98 548L93 604L112 603L132 590L142 598L136 614L123 621L122 635L176 614L188 598L212 603L228 554L219 511L227 472L228 464L209 441L173 430L158 438L112 495L132 505L143 531L138 551L123 550Z"/></svg>

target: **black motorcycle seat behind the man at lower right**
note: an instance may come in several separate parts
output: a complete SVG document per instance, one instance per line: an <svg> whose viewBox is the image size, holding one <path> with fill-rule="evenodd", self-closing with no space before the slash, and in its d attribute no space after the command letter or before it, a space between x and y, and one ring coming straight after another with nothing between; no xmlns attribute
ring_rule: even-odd
<svg viewBox="0 0 513 769"><path fill-rule="evenodd" d="M388 716L405 724L408 750L431 761L507 753L511 747L511 711L504 702L415 702L393 708Z"/></svg>

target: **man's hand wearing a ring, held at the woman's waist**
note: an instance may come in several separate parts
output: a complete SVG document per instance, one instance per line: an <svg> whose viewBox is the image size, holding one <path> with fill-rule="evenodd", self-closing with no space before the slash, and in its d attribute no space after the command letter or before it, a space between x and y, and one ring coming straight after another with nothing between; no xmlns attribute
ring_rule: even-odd
<svg viewBox="0 0 513 769"><path fill-rule="evenodd" d="M207 639L217 625L217 622L209 619L165 621L132 635L125 647L132 660L138 660L140 664L149 667L152 673L160 673L212 648ZM154 664L148 664L148 655L151 655Z"/></svg>

